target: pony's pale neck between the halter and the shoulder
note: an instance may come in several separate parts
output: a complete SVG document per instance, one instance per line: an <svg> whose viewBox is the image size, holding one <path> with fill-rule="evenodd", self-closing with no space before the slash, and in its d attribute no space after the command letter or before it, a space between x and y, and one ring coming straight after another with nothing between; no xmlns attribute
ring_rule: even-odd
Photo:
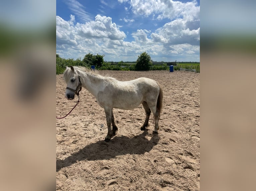
<svg viewBox="0 0 256 191"><path fill-rule="evenodd" d="M103 79L88 72L83 72L81 77L83 87L97 98L99 91L102 91L102 88L104 88Z"/></svg>

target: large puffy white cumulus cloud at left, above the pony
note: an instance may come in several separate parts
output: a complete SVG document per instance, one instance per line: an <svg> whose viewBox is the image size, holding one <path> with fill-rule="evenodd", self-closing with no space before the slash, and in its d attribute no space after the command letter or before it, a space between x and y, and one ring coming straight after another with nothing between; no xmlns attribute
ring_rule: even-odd
<svg viewBox="0 0 256 191"><path fill-rule="evenodd" d="M110 17L97 15L94 21L86 24L76 23L75 17L71 15L69 21L56 16L56 52L64 58L84 57L92 54L106 54L115 52L107 47L127 47L123 42L126 37ZM70 57L69 57L70 56Z"/></svg>

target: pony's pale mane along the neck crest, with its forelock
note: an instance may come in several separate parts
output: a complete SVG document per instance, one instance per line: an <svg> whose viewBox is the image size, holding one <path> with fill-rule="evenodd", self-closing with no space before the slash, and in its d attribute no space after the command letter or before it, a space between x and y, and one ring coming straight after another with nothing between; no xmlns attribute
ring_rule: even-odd
<svg viewBox="0 0 256 191"><path fill-rule="evenodd" d="M82 66L73 66L73 67L74 67L74 69L75 69L76 71L81 71L81 72L90 73L90 74L96 75L96 76L98 76L98 77L100 77L100 78L115 79L115 78L109 77L108 75L102 76L102 75L100 75L100 74L98 73L97 70L92 70L91 68L88 68L88 67L82 67ZM67 81L70 79L71 75L72 75L72 70L71 70L70 68L66 68L65 72L63 73L63 79L64 79L64 81L65 81L66 83L67 83Z"/></svg>

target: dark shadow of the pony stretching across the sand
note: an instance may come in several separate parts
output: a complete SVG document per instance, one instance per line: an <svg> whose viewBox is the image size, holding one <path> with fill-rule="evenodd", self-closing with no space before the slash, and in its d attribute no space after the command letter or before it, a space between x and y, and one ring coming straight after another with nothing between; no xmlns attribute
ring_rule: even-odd
<svg viewBox="0 0 256 191"><path fill-rule="evenodd" d="M100 140L87 145L63 160L56 160L56 172L81 160L108 160L119 155L149 152L158 143L159 137L155 134L148 140L145 137L146 135L148 135L148 132L144 131L132 138L115 136L110 142Z"/></svg>

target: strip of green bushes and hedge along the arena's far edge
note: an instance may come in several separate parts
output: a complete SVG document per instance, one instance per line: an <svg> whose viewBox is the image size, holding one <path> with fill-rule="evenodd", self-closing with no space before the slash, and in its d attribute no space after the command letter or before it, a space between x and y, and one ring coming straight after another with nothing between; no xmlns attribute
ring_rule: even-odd
<svg viewBox="0 0 256 191"><path fill-rule="evenodd" d="M56 54L56 74L63 74L67 66L83 66L88 68L95 66L97 70L169 70L169 66L166 62L154 62L154 64L152 64L152 60L146 52L138 56L136 62L106 62L103 60L104 56L105 55L93 55L89 53L85 55L83 60L81 60L81 58L74 60L60 58L59 55ZM200 73L200 63L196 62L179 62L177 66L173 66L173 70L179 70L180 68L191 69L191 67L192 69L196 69L196 72Z"/></svg>

